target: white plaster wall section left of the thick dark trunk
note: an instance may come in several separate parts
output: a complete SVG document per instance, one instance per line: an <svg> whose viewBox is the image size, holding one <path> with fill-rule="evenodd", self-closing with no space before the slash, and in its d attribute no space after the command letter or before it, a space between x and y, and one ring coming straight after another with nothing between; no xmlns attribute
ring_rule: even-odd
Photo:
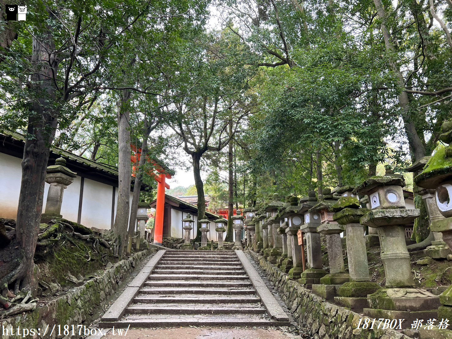
<svg viewBox="0 0 452 339"><path fill-rule="evenodd" d="M0 153L0 218L17 217L22 178L21 161L15 156Z"/></svg>

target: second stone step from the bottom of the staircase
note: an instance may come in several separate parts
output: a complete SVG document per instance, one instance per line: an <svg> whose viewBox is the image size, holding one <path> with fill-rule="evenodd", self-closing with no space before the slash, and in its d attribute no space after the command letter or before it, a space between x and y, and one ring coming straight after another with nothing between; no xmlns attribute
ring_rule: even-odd
<svg viewBox="0 0 452 339"><path fill-rule="evenodd" d="M264 314L259 304L246 305L206 305L206 304L134 304L126 308L127 314Z"/></svg>

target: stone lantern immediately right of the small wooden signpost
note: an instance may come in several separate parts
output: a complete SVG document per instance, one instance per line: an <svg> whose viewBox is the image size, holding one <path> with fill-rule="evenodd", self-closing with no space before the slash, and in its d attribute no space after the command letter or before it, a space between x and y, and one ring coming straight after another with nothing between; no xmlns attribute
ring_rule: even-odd
<svg viewBox="0 0 452 339"><path fill-rule="evenodd" d="M322 249L320 234L317 233L317 226L320 226L320 212L313 209L317 204L315 192L308 193L307 201L302 199L300 213L304 213L304 224L300 226L301 231L306 234L306 254L308 268L301 273L299 282L306 288L311 288L313 284L320 283L320 278L327 273L322 268Z"/></svg>

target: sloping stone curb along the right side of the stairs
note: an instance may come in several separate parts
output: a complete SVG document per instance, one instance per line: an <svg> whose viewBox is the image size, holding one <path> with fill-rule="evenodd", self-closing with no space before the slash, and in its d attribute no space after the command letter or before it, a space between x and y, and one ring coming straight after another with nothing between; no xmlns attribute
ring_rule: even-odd
<svg viewBox="0 0 452 339"><path fill-rule="evenodd" d="M273 297L272 292L270 292L267 285L265 285L265 282L264 280L262 280L259 273L254 269L250 261L245 257L243 251L236 250L235 254L237 254L237 257L242 263L246 274L248 274L248 277L250 278L257 295L260 297L262 303L264 304L264 307L267 310L270 318L280 321L289 321L289 317L287 316L286 312L282 310L282 307L278 304L278 301L276 301L275 297Z"/></svg>

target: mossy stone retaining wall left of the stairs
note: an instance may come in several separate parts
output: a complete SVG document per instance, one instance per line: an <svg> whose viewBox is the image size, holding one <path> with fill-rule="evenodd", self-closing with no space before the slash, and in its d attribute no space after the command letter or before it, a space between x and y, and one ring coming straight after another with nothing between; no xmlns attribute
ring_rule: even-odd
<svg viewBox="0 0 452 339"><path fill-rule="evenodd" d="M89 279L82 286L72 288L65 295L46 301L43 306L38 303L33 312L26 312L1 321L0 338L22 338L22 335L3 335L5 329L17 329L18 326L21 329L40 329L42 336L47 325L49 325L48 333L50 333L54 324L61 325L62 335L56 335L57 330L55 330L52 336L47 334L45 338L80 338L77 325L89 326L95 311L107 303L108 297L115 292L118 285L129 276L142 259L146 258L149 253L155 252L155 249L138 252L130 258L114 264L99 277ZM64 325L75 325L76 335L72 336L71 333L65 336ZM72 330L72 327L70 329ZM9 331L9 333L11 332ZM31 336L27 337L31 338ZM38 336L35 337L38 338Z"/></svg>

